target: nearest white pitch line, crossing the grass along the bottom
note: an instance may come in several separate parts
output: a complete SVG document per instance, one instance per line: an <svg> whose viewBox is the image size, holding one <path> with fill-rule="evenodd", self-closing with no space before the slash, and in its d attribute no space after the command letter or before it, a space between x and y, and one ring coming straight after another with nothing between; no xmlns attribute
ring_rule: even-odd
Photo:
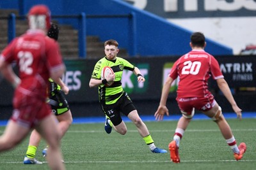
<svg viewBox="0 0 256 170"><path fill-rule="evenodd" d="M170 160L116 160L116 161L104 161L104 160L89 160L89 161L65 161L65 164L73 163L161 163L171 162ZM237 162L237 160L180 160L180 162L191 163L191 162ZM239 162L256 162L256 160L239 160ZM47 163L47 162L43 162ZM0 164L23 164L23 162L0 162Z"/></svg>

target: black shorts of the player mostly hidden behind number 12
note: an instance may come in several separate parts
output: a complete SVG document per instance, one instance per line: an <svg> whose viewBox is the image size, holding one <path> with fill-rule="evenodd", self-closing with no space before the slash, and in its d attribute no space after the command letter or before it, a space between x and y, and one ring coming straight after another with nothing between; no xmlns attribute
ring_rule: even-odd
<svg viewBox="0 0 256 170"><path fill-rule="evenodd" d="M52 113L56 116L69 110L68 102L60 91L56 92L53 96L51 95L48 103L51 104Z"/></svg>

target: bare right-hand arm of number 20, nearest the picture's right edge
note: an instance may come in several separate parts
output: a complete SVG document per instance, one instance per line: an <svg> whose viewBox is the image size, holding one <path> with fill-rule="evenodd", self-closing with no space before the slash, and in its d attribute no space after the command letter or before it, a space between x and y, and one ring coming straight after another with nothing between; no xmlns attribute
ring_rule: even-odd
<svg viewBox="0 0 256 170"><path fill-rule="evenodd" d="M242 110L237 106L234 97L228 87L228 83L224 78L220 78L217 81L218 87L221 92L223 92L224 96L227 98L228 102L231 104L233 110L236 112L237 118L242 119Z"/></svg>

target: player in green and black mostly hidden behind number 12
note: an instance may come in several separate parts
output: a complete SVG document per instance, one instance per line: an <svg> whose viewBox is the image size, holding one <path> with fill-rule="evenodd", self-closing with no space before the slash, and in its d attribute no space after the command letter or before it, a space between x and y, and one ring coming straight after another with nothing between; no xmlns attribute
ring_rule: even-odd
<svg viewBox="0 0 256 170"><path fill-rule="evenodd" d="M47 35L55 39L56 41L58 40L58 34L59 34L59 27L57 24L51 23L51 27L47 33ZM56 118L59 122L58 128L61 131L61 138L65 135L65 133L68 130L68 127L72 124L72 113L69 109L67 100L61 93L61 90L65 93L68 94L69 89L63 83L61 78L58 78L58 81L54 82L52 79L49 79L49 87L48 87L48 95L49 95L49 100L47 102L51 104L52 108L52 113L56 115ZM26 157L24 157L24 164L42 164L42 162L38 161L35 159L36 155L36 150L37 147L40 143L41 136L36 132L34 129L31 132L30 138L29 138L29 145L28 145L28 150L26 152ZM43 155L44 157L46 156L47 153L47 148L43 150Z"/></svg>

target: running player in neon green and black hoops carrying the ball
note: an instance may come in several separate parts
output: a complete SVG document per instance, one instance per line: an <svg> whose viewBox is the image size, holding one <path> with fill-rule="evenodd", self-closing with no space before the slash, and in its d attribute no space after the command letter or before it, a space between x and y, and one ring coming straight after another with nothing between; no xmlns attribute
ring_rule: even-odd
<svg viewBox="0 0 256 170"><path fill-rule="evenodd" d="M136 125L141 137L153 153L166 153L166 150L157 148L154 145L154 141L148 132L147 126L138 115L138 111L127 92L124 92L124 89L122 88L121 78L124 69L136 74L139 83L145 81L145 78L143 78L140 73L140 69L134 67L127 60L116 57L119 49L118 42L115 40L110 39L106 41L104 45L106 57L100 59L97 64L95 64L89 86L99 87L99 101L102 111L104 111L106 115L105 131L109 134L111 133L112 127L114 127L116 132L122 135L126 134L127 127L120 115L120 113L123 113ZM102 68L105 66L111 67L114 74L111 73L106 79L100 80ZM110 82L113 82L113 84L110 87L107 87L106 84Z"/></svg>

